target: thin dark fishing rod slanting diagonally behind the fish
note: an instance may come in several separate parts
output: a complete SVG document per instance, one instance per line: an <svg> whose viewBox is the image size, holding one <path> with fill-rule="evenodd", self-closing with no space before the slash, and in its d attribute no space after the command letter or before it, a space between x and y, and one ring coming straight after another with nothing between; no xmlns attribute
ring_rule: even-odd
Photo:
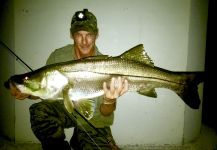
<svg viewBox="0 0 217 150"><path fill-rule="evenodd" d="M21 61L21 63L23 63L27 68L29 68L29 70L31 71L34 71L27 63L25 63L15 52L13 52L4 42L2 42L0 40L0 43L1 45L3 45L10 53L12 53L15 57L16 57L16 60L19 60ZM85 121L88 123L89 126L91 126L97 133L101 134L103 136L103 138L106 139L106 142L108 143L108 145L110 147L113 147L114 144L112 143L111 140L109 140L103 133L99 132L99 130L92 124L90 123L81 113L79 113L79 111L77 109L75 109L75 112ZM71 114L73 118L76 118L74 117L73 114ZM72 118L71 118L72 119ZM82 126L82 124L79 122L80 126ZM101 148L98 146L98 144L94 141L94 139L91 138L91 136L89 135L89 133L85 130L85 128L82 126L83 130L86 132L87 136L94 142L94 144L97 146L97 148L99 150L101 150Z"/></svg>

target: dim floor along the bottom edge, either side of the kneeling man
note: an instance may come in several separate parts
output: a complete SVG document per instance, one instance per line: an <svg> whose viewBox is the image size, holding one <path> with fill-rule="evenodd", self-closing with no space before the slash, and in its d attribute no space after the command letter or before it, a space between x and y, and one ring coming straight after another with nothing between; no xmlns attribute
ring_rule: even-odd
<svg viewBox="0 0 217 150"><path fill-rule="evenodd" d="M183 146L126 145L121 148L123 150L217 150L217 134L214 129L202 125L200 136L195 141ZM0 150L42 150L42 148L40 144L35 143L14 144L0 140Z"/></svg>

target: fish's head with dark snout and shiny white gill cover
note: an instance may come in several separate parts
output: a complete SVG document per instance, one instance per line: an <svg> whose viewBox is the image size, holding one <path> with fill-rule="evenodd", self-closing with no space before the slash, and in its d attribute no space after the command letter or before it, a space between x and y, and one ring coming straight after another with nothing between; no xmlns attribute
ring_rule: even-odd
<svg viewBox="0 0 217 150"><path fill-rule="evenodd" d="M58 71L33 71L25 74L14 75L5 82L5 87L14 85L21 93L54 99L62 92L68 79Z"/></svg>

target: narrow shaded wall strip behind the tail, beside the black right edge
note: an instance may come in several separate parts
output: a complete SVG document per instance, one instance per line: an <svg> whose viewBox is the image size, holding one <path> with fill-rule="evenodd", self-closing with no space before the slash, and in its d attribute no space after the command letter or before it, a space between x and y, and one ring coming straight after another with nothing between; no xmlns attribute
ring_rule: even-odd
<svg viewBox="0 0 217 150"><path fill-rule="evenodd" d="M207 7L207 1L191 1L187 70L204 70ZM203 84L199 86L200 97L203 97L202 90ZM185 108L184 142L189 142L192 139L195 139L200 133L200 123L202 119L201 113L202 107L200 107L198 111L194 111L189 107Z"/></svg>

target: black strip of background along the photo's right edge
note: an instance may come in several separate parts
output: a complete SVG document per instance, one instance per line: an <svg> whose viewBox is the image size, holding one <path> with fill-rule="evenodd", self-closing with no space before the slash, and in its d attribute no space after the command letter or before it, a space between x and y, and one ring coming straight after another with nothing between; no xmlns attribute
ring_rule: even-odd
<svg viewBox="0 0 217 150"><path fill-rule="evenodd" d="M209 0L202 122L217 133L216 0Z"/></svg>

